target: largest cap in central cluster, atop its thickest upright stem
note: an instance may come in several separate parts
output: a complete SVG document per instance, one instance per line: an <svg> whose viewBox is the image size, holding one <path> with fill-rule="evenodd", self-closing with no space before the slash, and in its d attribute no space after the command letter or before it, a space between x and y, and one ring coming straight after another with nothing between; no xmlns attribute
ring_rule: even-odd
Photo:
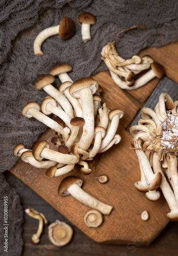
<svg viewBox="0 0 178 256"><path fill-rule="evenodd" d="M98 90L98 81L91 77L82 77L77 79L69 89L69 92L75 98L80 98L80 90L89 88L92 94L95 94Z"/></svg>

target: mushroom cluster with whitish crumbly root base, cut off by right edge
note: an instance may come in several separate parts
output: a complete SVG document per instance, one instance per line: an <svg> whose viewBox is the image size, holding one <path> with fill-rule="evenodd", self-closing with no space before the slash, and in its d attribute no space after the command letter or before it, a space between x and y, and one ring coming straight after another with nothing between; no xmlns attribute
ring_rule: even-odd
<svg viewBox="0 0 178 256"><path fill-rule="evenodd" d="M138 156L141 180L135 187L151 201L160 198L160 187L170 207L167 217L178 221L178 101L162 93L154 111L141 110L142 119L130 128Z"/></svg>

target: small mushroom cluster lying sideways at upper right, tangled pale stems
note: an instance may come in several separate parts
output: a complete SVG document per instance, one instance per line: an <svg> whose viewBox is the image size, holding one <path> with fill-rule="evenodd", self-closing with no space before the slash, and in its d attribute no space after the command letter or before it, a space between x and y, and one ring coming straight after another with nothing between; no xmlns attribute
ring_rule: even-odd
<svg viewBox="0 0 178 256"><path fill-rule="evenodd" d="M112 79L121 89L138 89L154 77L162 78L164 75L163 66L158 62L154 62L149 55L143 57L134 55L130 59L123 59L118 55L114 42L104 46L101 55ZM148 71L135 79L135 75L144 70Z"/></svg>

